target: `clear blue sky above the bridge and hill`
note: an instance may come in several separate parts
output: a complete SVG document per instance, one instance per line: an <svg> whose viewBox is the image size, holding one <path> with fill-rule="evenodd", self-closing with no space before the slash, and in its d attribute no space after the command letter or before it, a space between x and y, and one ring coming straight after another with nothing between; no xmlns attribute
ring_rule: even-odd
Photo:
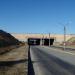
<svg viewBox="0 0 75 75"><path fill-rule="evenodd" d="M0 29L10 33L75 33L75 0L0 0Z"/></svg>

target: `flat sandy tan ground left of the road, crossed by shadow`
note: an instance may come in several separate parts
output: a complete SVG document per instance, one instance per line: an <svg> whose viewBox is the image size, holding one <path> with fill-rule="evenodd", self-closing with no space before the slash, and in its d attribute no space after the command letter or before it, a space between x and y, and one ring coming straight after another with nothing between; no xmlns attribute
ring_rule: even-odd
<svg viewBox="0 0 75 75"><path fill-rule="evenodd" d="M27 72L27 46L22 46L0 55L0 75L27 75Z"/></svg>

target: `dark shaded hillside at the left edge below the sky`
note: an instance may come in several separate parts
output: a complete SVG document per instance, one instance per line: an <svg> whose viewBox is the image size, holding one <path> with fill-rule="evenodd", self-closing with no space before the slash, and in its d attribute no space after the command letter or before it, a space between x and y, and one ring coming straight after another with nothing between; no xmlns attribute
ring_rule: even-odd
<svg viewBox="0 0 75 75"><path fill-rule="evenodd" d="M0 30L0 47L10 46L10 45L18 45L20 41L18 41L11 34Z"/></svg>

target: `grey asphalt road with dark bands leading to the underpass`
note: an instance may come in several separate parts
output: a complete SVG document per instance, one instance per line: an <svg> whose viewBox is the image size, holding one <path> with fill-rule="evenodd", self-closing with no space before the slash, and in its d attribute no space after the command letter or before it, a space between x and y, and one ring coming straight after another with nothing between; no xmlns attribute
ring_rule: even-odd
<svg viewBox="0 0 75 75"><path fill-rule="evenodd" d="M31 46L35 75L75 75L75 54L55 48Z"/></svg>

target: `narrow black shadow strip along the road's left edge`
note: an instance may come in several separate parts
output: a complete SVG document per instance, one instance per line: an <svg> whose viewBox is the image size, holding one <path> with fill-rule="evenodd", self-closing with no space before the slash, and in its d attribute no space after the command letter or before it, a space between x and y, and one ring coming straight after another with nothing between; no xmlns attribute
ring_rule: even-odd
<svg viewBox="0 0 75 75"><path fill-rule="evenodd" d="M31 61L31 56L30 56L30 46L28 50L28 75L35 75L34 69L33 69L33 64Z"/></svg>

